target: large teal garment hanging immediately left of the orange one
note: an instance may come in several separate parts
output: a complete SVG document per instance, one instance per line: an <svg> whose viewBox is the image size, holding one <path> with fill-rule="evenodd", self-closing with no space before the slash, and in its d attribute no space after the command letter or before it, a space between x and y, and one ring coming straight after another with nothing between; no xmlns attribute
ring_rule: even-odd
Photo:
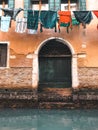
<svg viewBox="0 0 98 130"><path fill-rule="evenodd" d="M56 11L41 11L40 22L41 22L41 28L40 28L41 32L43 31L42 27L47 28L47 29L55 28L55 32L56 32L57 12Z"/></svg>

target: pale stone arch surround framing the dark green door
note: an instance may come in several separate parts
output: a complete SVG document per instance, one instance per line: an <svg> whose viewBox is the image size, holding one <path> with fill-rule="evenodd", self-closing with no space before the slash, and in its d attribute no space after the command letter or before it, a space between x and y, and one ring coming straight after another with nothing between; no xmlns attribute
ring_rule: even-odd
<svg viewBox="0 0 98 130"><path fill-rule="evenodd" d="M72 76L72 87L76 88L79 85L78 82L78 72L77 72L77 56L75 55L75 51L72 47L72 45L62 39L62 38L58 38L58 37L51 37L48 38L46 40L44 40L39 46L38 48L35 50L34 52L34 56L33 56L33 70L32 70L32 87L33 88L37 88L38 87L38 83L39 83L39 62L38 62L38 57L39 57L39 52L41 50L41 48L49 41L49 40L57 40L63 44L65 44L66 46L68 46L68 48L71 51L72 54L72 63L71 63L71 76Z"/></svg>

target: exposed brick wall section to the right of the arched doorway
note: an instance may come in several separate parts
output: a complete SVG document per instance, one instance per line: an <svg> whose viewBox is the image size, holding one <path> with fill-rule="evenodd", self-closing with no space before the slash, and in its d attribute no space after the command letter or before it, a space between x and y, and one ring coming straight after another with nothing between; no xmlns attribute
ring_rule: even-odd
<svg viewBox="0 0 98 130"><path fill-rule="evenodd" d="M79 86L98 88L98 68L78 68Z"/></svg>

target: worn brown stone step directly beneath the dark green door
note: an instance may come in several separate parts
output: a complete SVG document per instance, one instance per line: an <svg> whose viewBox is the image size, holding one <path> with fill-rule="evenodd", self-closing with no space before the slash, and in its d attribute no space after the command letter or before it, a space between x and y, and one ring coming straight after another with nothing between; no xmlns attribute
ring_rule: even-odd
<svg viewBox="0 0 98 130"><path fill-rule="evenodd" d="M38 93L39 102L72 101L72 90L66 88L47 88Z"/></svg>

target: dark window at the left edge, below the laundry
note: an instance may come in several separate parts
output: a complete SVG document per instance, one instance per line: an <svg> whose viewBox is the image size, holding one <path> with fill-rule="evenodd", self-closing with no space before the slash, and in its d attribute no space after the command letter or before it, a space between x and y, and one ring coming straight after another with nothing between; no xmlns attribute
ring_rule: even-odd
<svg viewBox="0 0 98 130"><path fill-rule="evenodd" d="M8 44L0 43L0 67L7 67Z"/></svg>

